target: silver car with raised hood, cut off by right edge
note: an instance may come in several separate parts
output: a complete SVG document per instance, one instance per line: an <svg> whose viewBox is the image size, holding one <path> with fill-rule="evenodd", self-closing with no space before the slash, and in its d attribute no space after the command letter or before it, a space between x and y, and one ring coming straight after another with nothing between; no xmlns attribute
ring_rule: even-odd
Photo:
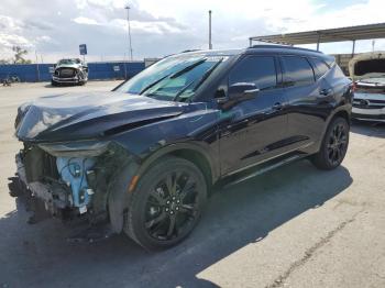
<svg viewBox="0 0 385 288"><path fill-rule="evenodd" d="M385 122L385 52L353 57L349 70L354 81L352 118Z"/></svg>

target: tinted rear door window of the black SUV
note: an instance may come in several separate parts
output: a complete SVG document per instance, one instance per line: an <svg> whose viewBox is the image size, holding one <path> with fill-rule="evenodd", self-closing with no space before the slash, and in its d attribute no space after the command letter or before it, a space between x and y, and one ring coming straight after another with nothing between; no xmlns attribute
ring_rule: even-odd
<svg viewBox="0 0 385 288"><path fill-rule="evenodd" d="M286 85L309 85L315 81L312 68L306 58L299 56L284 56L282 60L285 68Z"/></svg>

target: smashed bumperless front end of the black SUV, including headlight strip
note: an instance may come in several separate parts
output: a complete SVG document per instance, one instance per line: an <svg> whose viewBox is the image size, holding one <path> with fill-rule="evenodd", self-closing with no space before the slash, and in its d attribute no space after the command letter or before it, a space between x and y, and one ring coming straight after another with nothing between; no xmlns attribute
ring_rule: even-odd
<svg viewBox="0 0 385 288"><path fill-rule="evenodd" d="M74 240L107 237L108 196L113 171L131 156L113 142L25 143L16 155L16 174L10 178L13 197L22 197L33 214L30 223L55 217L65 223L92 228ZM95 233L107 231L106 233ZM88 231L88 230L87 230Z"/></svg>

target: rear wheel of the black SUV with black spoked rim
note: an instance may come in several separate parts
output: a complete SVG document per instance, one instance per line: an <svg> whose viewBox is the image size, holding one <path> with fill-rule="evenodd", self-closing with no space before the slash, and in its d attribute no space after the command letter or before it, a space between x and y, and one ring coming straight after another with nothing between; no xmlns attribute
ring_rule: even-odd
<svg viewBox="0 0 385 288"><path fill-rule="evenodd" d="M338 117L331 121L321 148L310 158L317 168L331 170L340 166L348 151L349 131L350 126L344 118Z"/></svg>

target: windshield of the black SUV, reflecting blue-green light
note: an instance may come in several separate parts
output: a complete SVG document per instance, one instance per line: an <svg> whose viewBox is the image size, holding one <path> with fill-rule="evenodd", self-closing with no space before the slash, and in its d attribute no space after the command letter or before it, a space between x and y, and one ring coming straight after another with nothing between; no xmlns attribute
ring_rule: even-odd
<svg viewBox="0 0 385 288"><path fill-rule="evenodd" d="M117 91L186 101L223 59L223 56L202 55L167 57L131 78Z"/></svg>

